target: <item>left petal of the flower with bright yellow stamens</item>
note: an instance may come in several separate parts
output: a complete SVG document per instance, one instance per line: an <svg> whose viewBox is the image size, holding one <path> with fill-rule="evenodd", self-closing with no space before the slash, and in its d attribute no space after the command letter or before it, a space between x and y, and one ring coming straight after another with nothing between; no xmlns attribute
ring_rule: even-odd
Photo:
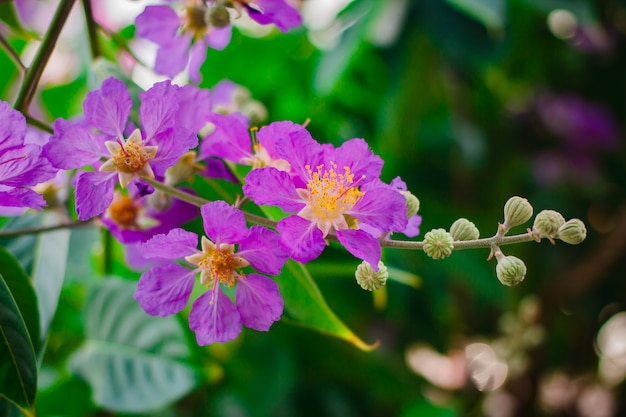
<svg viewBox="0 0 626 417"><path fill-rule="evenodd" d="M244 181L244 194L256 204L278 206L287 212L297 212L305 206L292 178L284 171L271 167L253 169Z"/></svg>

